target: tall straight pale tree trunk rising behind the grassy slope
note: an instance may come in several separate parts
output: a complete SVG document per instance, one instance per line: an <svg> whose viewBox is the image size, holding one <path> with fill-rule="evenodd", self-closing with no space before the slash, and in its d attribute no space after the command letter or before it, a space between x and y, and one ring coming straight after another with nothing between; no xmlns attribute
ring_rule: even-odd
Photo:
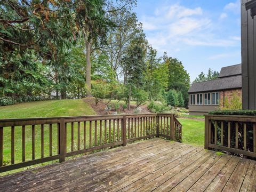
<svg viewBox="0 0 256 192"><path fill-rule="evenodd" d="M86 97L92 97L92 86L91 86L91 41L86 42Z"/></svg>

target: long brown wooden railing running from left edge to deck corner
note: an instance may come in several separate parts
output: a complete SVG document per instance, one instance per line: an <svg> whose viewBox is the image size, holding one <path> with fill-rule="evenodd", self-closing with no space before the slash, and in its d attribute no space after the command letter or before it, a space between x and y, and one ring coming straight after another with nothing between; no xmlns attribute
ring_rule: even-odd
<svg viewBox="0 0 256 192"><path fill-rule="evenodd" d="M181 130L173 114L0 119L0 172L153 137L181 142Z"/></svg>

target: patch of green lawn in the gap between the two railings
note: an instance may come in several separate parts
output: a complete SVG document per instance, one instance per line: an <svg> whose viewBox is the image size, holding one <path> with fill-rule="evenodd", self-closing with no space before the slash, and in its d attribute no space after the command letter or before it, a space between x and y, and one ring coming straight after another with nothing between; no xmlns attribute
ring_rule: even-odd
<svg viewBox="0 0 256 192"><path fill-rule="evenodd" d="M178 118L182 124L182 142L194 146L204 146L204 121Z"/></svg>

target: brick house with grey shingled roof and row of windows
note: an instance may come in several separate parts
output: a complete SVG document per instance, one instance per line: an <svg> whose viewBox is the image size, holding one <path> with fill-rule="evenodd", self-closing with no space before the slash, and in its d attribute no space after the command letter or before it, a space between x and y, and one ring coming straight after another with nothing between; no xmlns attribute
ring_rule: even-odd
<svg viewBox="0 0 256 192"><path fill-rule="evenodd" d="M242 100L241 64L222 67L217 79L193 83L188 94L191 115L203 115L217 110L233 94L237 94Z"/></svg>

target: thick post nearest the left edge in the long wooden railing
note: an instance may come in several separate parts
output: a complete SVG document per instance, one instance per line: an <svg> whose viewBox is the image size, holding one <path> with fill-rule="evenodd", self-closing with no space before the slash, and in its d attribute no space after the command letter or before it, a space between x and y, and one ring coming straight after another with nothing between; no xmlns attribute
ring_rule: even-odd
<svg viewBox="0 0 256 192"><path fill-rule="evenodd" d="M66 131L64 118L60 119L60 133L59 133L59 151L60 151L60 163L65 162L65 149L66 149Z"/></svg>

